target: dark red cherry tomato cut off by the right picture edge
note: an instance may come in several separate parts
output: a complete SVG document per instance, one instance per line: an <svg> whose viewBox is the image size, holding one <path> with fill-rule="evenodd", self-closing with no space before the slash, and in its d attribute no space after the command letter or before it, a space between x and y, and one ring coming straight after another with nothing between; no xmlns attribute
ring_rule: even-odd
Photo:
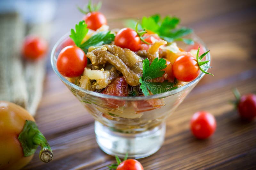
<svg viewBox="0 0 256 170"><path fill-rule="evenodd" d="M242 119L252 120L256 117L256 95L248 94L240 98L237 104Z"/></svg>

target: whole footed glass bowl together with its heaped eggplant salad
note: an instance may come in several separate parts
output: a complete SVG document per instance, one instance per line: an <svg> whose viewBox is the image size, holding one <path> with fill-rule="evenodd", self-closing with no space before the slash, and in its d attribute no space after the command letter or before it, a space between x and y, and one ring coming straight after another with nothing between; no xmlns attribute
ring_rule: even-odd
<svg viewBox="0 0 256 170"><path fill-rule="evenodd" d="M104 152L146 157L164 141L164 120L210 74L210 53L179 18L116 20L116 28L99 8L79 8L84 20L54 46L52 67L94 117Z"/></svg>

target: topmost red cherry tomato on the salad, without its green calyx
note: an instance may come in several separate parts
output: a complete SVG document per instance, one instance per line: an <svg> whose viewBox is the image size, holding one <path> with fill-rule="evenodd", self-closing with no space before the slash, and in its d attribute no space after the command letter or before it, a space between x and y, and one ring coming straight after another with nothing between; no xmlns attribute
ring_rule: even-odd
<svg viewBox="0 0 256 170"><path fill-rule="evenodd" d="M84 16L84 21L87 27L96 31L102 25L107 25L106 17L100 12L89 12Z"/></svg>

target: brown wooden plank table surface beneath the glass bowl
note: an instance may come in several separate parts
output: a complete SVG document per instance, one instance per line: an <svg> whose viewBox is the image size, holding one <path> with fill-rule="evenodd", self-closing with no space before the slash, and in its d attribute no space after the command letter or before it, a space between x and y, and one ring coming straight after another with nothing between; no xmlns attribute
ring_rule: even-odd
<svg viewBox="0 0 256 170"><path fill-rule="evenodd" d="M51 45L81 20L76 4L58 1L55 32ZM194 29L212 55L210 70L185 101L167 119L162 148L140 159L145 170L155 169L253 169L256 168L256 121L240 121L229 104L231 89L242 94L256 92L256 8L255 1L243 0L147 0L103 2L107 18L142 17L160 13L182 18L181 24ZM44 94L36 121L52 146L54 159L45 164L38 152L25 169L108 169L115 161L102 152L94 135L94 121L69 92L48 64ZM189 120L198 110L211 112L217 120L215 134L197 140Z"/></svg>

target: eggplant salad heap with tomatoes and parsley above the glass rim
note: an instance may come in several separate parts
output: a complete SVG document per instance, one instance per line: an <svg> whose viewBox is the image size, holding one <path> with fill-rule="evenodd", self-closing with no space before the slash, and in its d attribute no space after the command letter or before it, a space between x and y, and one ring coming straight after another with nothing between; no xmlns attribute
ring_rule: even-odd
<svg viewBox="0 0 256 170"><path fill-rule="evenodd" d="M113 96L149 96L177 89L193 81L208 66L209 52L184 36L179 19L143 17L132 28L109 30L100 4L91 2L83 21L71 29L57 59L59 72L77 86ZM175 41L190 44L184 51Z"/></svg>

